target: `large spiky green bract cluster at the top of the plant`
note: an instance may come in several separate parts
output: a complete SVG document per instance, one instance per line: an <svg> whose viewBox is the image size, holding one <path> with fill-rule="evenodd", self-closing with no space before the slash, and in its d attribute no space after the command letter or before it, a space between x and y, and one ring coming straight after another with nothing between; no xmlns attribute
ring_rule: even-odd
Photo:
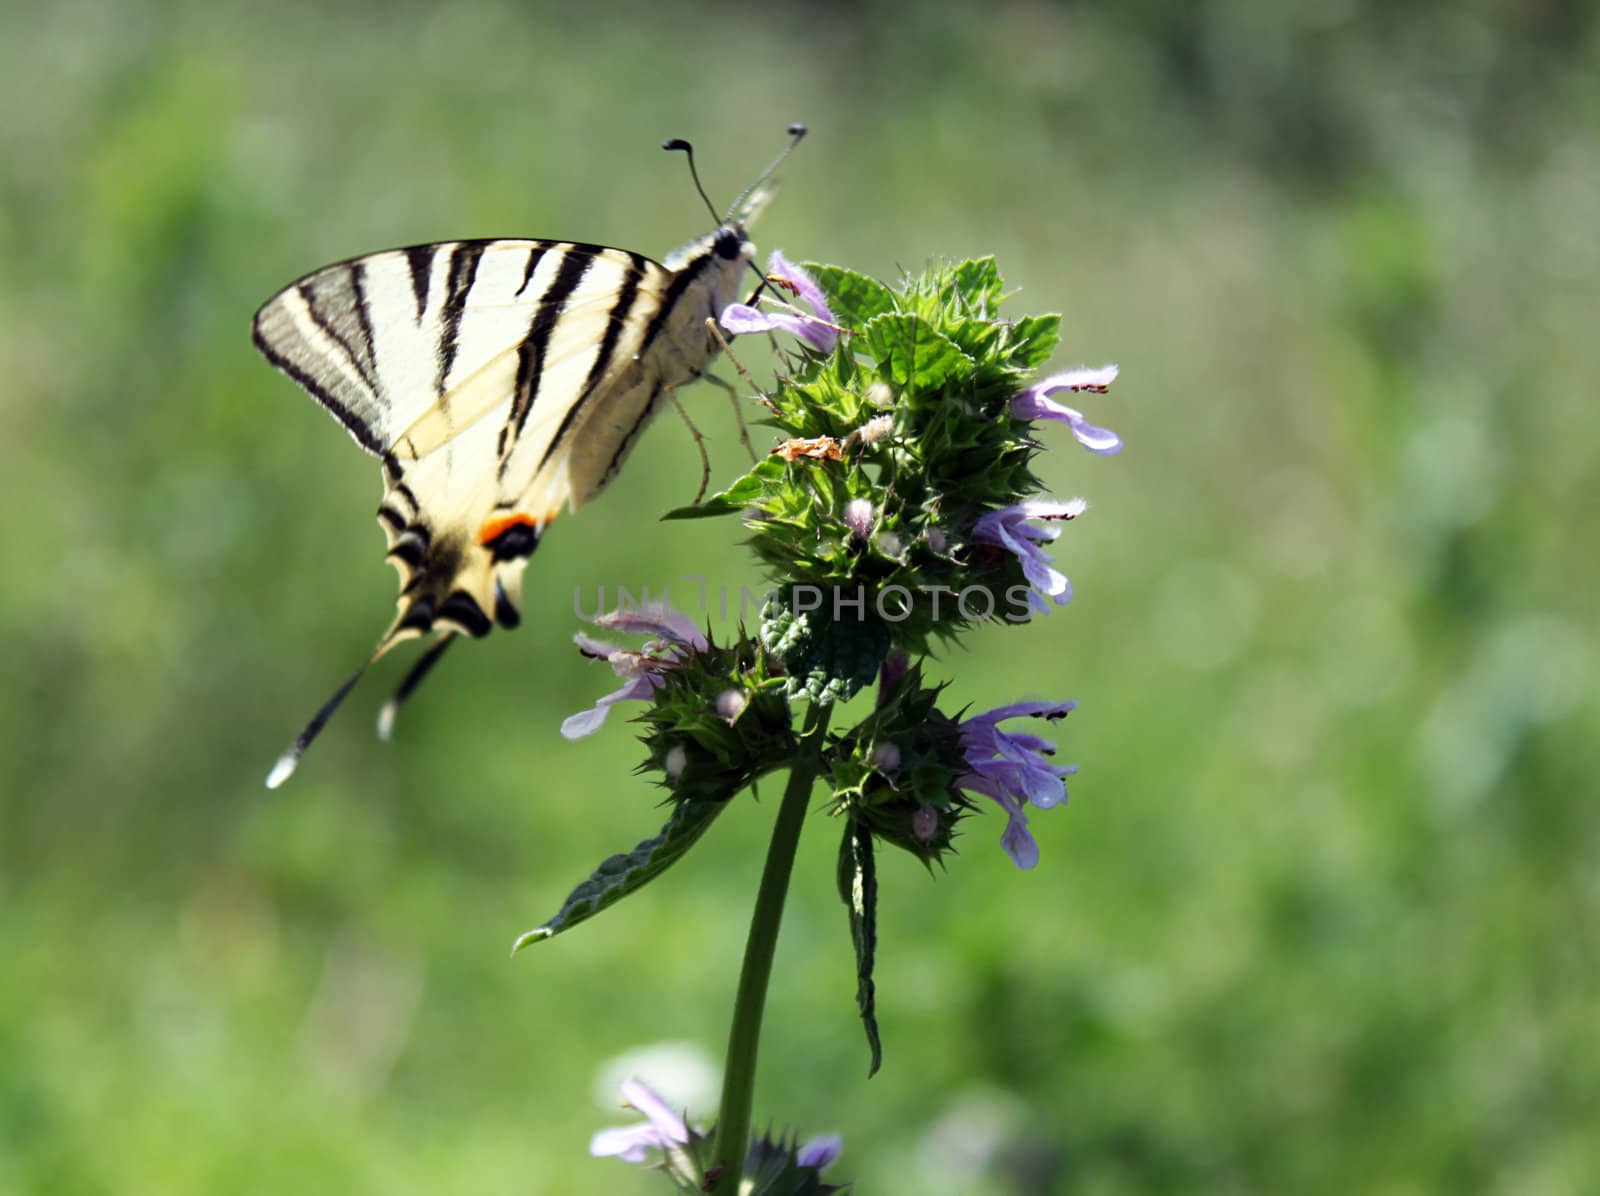
<svg viewBox="0 0 1600 1196"><path fill-rule="evenodd" d="M778 451L669 518L742 513L750 547L786 587L763 643L797 691L848 697L870 668L824 683L818 659L920 652L973 622L1026 616L1018 561L966 536L979 515L1038 489L1038 445L1010 403L1054 352L1059 317L1000 318L990 257L898 289L837 265L806 269L848 334L829 355L786 353L778 414L765 421ZM802 616L805 648L792 654L784 644ZM835 636L850 643L835 648Z"/></svg>

